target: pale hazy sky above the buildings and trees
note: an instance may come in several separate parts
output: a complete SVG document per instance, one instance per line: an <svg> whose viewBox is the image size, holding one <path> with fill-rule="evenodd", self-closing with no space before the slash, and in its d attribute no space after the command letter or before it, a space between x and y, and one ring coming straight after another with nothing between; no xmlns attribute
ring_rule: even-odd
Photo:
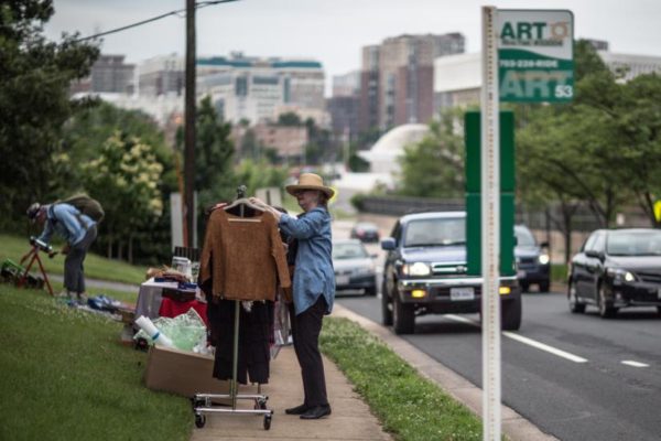
<svg viewBox="0 0 661 441"><path fill-rule="evenodd" d="M199 0L198 0L199 2ZM54 0L46 34L90 35L170 11L185 0ZM480 50L480 7L568 9L575 37L606 40L611 52L661 56L661 0L239 0L197 11L197 55L312 57L333 75L358 69L360 47L404 33L460 32ZM169 17L104 37L102 53L130 63L185 53L185 18Z"/></svg>

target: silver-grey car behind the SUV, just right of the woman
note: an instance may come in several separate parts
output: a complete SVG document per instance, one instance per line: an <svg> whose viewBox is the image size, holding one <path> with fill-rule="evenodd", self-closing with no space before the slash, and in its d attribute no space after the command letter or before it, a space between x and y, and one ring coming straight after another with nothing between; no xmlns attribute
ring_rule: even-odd
<svg viewBox="0 0 661 441"><path fill-rule="evenodd" d="M377 294L377 273L373 257L358 239L333 241L333 267L335 289L364 290L367 295Z"/></svg>

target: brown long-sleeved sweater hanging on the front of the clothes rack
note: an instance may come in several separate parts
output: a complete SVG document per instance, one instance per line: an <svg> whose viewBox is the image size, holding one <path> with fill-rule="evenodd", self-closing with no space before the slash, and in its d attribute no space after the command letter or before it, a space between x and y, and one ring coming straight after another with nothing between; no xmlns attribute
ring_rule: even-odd
<svg viewBox="0 0 661 441"><path fill-rule="evenodd" d="M242 218L212 212L199 262L201 287L227 300L275 300L278 286L291 287L275 217L259 212Z"/></svg>

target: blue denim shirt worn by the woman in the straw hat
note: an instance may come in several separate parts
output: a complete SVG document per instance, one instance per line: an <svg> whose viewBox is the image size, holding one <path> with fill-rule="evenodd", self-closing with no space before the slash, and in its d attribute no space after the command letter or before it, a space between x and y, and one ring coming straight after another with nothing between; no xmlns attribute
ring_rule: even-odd
<svg viewBox="0 0 661 441"><path fill-rule="evenodd" d="M312 306L319 295L326 299L326 314L329 314L335 299L330 214L323 207L313 208L301 218L283 214L279 225L299 240L292 289L296 315Z"/></svg>

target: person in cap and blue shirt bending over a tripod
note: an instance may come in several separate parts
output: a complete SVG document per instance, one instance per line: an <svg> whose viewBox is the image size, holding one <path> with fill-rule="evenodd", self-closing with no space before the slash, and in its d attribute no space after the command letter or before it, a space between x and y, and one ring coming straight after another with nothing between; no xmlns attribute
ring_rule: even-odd
<svg viewBox="0 0 661 441"><path fill-rule="evenodd" d="M41 205L34 203L28 208L28 217L43 225L39 240L48 243L53 233L64 240L64 291L62 297L85 301L85 275L83 261L97 236L97 225L89 216L66 203Z"/></svg>

